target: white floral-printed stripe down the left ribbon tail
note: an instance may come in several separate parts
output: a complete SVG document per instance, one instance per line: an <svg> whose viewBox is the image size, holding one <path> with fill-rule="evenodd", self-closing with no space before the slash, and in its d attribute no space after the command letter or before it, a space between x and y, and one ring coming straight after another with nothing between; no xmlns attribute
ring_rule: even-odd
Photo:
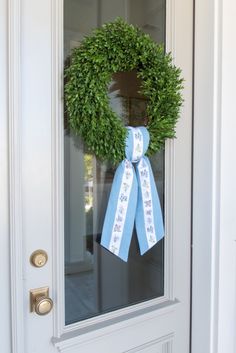
<svg viewBox="0 0 236 353"><path fill-rule="evenodd" d="M118 255L120 251L121 240L123 237L126 213L129 205L129 198L134 178L132 163L127 159L124 161L125 171L122 176L121 188L118 196L118 203L115 213L115 219L112 227L109 250Z"/></svg>

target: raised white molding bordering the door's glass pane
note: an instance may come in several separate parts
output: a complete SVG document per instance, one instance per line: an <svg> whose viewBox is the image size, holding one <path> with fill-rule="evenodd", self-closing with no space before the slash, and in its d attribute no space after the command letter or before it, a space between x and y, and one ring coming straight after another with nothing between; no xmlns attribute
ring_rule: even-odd
<svg viewBox="0 0 236 353"><path fill-rule="evenodd" d="M56 300L53 311L54 337L60 338L67 332L83 329L99 323L101 320L113 319L132 315L133 312L155 308L162 303L175 302L173 288L174 259L173 246L175 234L175 217L173 213L175 183L175 141L167 141L165 148L165 165L168 173L165 173L165 210L166 210L166 241L165 241L165 295L145 303L133 305L115 312L97 316L83 322L78 322L65 327L65 290L64 290L64 129L63 129L63 0L51 0L51 33L52 33L52 239L53 239L53 296ZM175 57L175 16L176 8L174 0L166 0L166 47L172 51ZM58 295L60 293L60 295Z"/></svg>

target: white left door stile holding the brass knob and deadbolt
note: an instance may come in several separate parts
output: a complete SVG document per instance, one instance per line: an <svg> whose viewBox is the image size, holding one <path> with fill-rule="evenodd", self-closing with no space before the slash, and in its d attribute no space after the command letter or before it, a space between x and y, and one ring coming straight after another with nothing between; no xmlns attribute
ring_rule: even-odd
<svg viewBox="0 0 236 353"><path fill-rule="evenodd" d="M55 16L55 14L53 14ZM57 17L54 17L57 19ZM29 312L29 290L52 282L52 4L50 1L21 1L21 156L22 156L22 251L24 278L24 353L55 352L50 344L53 314L39 317ZM56 94L56 93L55 93ZM44 249L49 261L42 269L30 265L36 249ZM58 255L60 256L60 255ZM56 258L56 256L55 256ZM24 325L22 324L24 323ZM51 332L51 334L50 334Z"/></svg>

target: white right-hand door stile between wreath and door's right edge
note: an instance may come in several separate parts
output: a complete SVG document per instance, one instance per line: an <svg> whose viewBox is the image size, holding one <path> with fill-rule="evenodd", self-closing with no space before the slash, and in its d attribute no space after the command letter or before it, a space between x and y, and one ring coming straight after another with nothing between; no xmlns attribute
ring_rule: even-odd
<svg viewBox="0 0 236 353"><path fill-rule="evenodd" d="M184 271L184 267L190 268L191 173L187 178L186 173L188 173L187 165L191 169L191 134L188 134L187 131L191 131L192 128L192 65L186 65L186 63L192 62L193 4L190 1L173 1L171 5L169 8L167 7L167 21L170 21L170 27L167 22L167 50L173 52L175 64L181 67L185 78L185 103L177 126L177 139L172 141L174 144L172 151L174 159L173 183L170 189L173 192L171 205L173 212L172 286L173 296L182 303L182 315L187 317L189 315L187 308L190 300L190 273ZM187 28L188 30L186 30ZM181 320L181 325L179 324L181 310L176 316L173 351L189 352L188 320ZM179 318L178 315L180 315Z"/></svg>

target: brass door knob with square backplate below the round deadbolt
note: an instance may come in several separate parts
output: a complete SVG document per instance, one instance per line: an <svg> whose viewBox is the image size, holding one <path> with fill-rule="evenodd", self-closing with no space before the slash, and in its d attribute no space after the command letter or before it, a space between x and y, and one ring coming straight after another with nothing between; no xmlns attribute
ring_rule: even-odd
<svg viewBox="0 0 236 353"><path fill-rule="evenodd" d="M53 301L49 298L49 288L42 287L30 290L30 312L46 315L53 308Z"/></svg>

